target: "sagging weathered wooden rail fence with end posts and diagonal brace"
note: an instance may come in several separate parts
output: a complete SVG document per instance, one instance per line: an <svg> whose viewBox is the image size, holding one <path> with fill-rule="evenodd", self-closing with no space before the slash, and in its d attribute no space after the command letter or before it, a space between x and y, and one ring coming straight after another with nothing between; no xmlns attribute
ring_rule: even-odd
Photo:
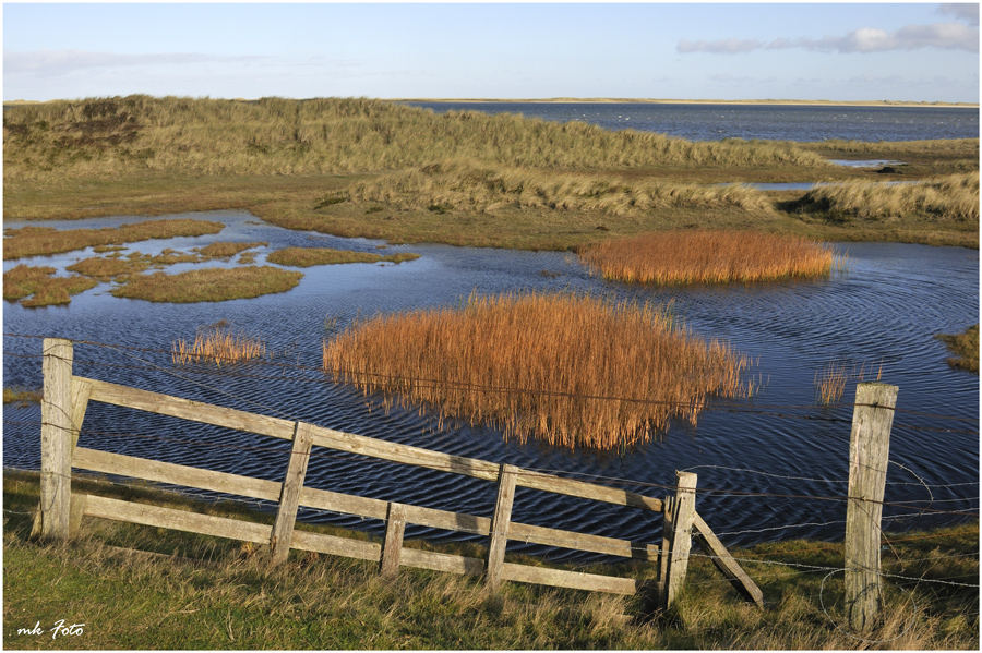
<svg viewBox="0 0 982 653"><path fill-rule="evenodd" d="M343 433L304 422L259 415L140 390L92 378L73 376L72 343L44 341L44 402L41 406L41 494L35 534L69 539L84 517L97 517L167 529L177 529L265 544L272 560L286 560L291 548L372 560L381 573L395 575L400 566L459 575L483 576L496 588L503 581L539 583L596 592L635 594L646 583L634 578L546 569L504 561L508 540L620 556L655 563L659 572L654 590L669 606L682 589L693 542L709 554L717 567L749 600L763 607L761 590L726 551L695 510L696 474L676 472L675 493L664 499L549 474L510 464L451 456L418 447ZM213 424L289 440L292 448L283 483L168 462L134 458L77 446L79 433L91 401L128 407L193 422ZM421 506L339 494L306 487L304 476L313 447L358 454L381 460L452 472L498 484L493 516L489 519ZM278 503L274 524L199 515L132 501L71 492L71 470L144 479ZM661 545L590 535L511 520L516 487L530 487L565 496L628 506L661 513ZM308 507L385 520L381 544L295 529L299 508ZM486 559L406 548L407 523L487 535Z"/></svg>

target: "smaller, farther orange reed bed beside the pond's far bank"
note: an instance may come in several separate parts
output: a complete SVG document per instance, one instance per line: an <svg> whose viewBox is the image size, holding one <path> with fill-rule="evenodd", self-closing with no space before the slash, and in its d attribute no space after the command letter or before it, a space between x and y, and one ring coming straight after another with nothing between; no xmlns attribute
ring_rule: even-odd
<svg viewBox="0 0 982 653"><path fill-rule="evenodd" d="M606 279L640 283L728 283L828 276L828 245L750 231L670 231L598 243L579 255Z"/></svg>

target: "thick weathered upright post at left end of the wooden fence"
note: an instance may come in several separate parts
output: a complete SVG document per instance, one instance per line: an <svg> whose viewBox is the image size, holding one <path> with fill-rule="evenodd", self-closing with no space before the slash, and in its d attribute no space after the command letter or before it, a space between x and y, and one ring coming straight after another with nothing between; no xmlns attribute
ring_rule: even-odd
<svg viewBox="0 0 982 653"><path fill-rule="evenodd" d="M35 534L67 540L72 505L72 342L45 338L43 353L40 528Z"/></svg>

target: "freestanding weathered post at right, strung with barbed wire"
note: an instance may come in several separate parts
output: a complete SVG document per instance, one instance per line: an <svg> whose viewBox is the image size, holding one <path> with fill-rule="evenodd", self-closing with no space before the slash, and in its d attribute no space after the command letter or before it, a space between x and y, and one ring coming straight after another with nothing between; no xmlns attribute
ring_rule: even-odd
<svg viewBox="0 0 982 653"><path fill-rule="evenodd" d="M881 383L855 387L846 508L846 608L855 631L873 625L883 603L879 527L897 392Z"/></svg>

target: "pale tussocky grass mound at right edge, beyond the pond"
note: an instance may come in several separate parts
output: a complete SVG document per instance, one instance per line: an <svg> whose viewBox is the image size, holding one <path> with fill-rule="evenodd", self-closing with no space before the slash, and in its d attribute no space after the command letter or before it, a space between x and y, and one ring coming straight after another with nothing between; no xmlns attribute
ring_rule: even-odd
<svg viewBox="0 0 982 653"><path fill-rule="evenodd" d="M979 172L947 174L918 183L851 181L818 186L801 199L802 210L827 211L831 221L888 221L918 216L931 221L979 226Z"/></svg>

